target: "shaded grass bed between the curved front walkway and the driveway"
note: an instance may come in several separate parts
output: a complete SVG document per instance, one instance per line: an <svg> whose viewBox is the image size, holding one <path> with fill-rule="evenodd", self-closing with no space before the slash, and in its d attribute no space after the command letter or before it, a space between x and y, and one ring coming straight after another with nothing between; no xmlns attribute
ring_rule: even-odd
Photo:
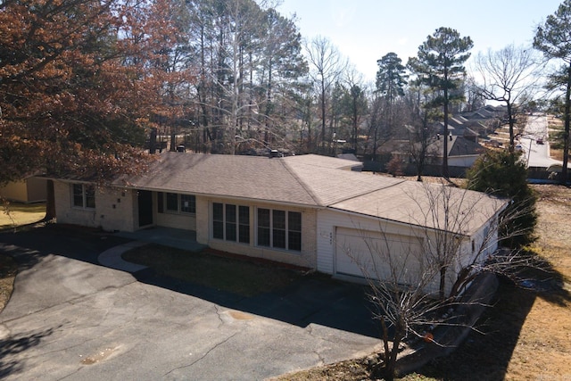
<svg viewBox="0 0 571 381"><path fill-rule="evenodd" d="M159 244L137 247L122 257L161 275L247 297L285 287L301 277L299 271L276 265L212 253L190 253Z"/></svg>

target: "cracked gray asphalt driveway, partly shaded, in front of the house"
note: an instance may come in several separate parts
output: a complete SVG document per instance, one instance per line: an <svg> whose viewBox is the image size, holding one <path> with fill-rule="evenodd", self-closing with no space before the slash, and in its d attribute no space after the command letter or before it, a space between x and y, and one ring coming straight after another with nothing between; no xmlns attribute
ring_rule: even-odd
<svg viewBox="0 0 571 381"><path fill-rule="evenodd" d="M0 378L255 380L379 344L359 286L310 277L244 298L99 264L127 242L61 227L0 234L20 267L0 313Z"/></svg>

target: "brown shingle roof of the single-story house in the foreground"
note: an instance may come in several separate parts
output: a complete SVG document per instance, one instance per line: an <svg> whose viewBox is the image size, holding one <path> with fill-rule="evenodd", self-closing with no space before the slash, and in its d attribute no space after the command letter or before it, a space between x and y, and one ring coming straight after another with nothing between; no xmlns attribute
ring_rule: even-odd
<svg viewBox="0 0 571 381"><path fill-rule="evenodd" d="M318 155L272 158L200 153L163 153L148 173L115 185L196 195L255 199L332 207L403 223L439 228L442 221L423 216L430 205L426 189L440 185L347 170L355 162ZM504 201L461 189L450 188L451 198L465 200L457 209L477 203L481 215L461 228L479 227L501 208ZM443 226L443 225L442 225ZM459 229L460 230L460 229Z"/></svg>

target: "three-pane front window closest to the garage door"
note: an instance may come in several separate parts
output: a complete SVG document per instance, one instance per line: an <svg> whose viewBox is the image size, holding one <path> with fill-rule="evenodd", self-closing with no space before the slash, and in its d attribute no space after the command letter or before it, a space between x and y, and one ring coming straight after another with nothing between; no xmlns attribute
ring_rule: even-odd
<svg viewBox="0 0 571 381"><path fill-rule="evenodd" d="M258 208L258 245L302 251L302 213Z"/></svg>

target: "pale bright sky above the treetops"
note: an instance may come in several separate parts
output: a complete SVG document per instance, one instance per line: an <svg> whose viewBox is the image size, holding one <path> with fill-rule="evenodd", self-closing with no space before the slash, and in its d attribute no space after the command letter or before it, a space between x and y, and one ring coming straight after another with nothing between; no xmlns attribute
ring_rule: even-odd
<svg viewBox="0 0 571 381"><path fill-rule="evenodd" d="M509 44L531 45L534 30L563 0L283 0L302 37L327 37L368 81L377 60L393 52L403 63L440 27L474 41L472 55Z"/></svg>

